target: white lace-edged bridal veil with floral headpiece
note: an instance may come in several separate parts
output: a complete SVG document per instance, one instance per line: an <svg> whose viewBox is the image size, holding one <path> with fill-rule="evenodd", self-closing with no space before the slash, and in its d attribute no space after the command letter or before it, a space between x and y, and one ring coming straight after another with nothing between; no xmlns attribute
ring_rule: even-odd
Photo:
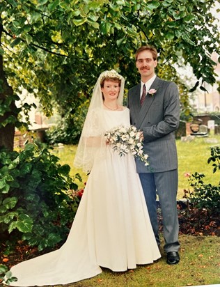
<svg viewBox="0 0 220 287"><path fill-rule="evenodd" d="M115 70L102 72L93 89L91 103L74 157L74 166L83 169L86 173L91 171L94 159L98 156L102 157L102 150L106 146L104 140L104 133L106 132L104 130L104 107L100 83L105 78L115 77L121 80L118 105L123 105L125 79Z"/></svg>

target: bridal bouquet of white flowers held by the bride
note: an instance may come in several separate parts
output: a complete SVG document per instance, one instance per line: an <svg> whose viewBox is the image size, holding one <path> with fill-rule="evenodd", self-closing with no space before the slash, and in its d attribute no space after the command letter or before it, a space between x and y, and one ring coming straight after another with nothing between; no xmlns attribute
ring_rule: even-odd
<svg viewBox="0 0 220 287"><path fill-rule="evenodd" d="M147 166L148 155L143 153L143 141L141 131L137 130L134 125L129 127L119 126L104 134L107 143L110 143L113 150L118 151L119 155L131 153L134 157L139 157L139 160Z"/></svg>

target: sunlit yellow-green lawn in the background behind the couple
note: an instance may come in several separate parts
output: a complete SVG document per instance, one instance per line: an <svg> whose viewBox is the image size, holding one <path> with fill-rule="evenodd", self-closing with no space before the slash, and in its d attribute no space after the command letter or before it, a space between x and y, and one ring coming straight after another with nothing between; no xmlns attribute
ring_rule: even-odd
<svg viewBox="0 0 220 287"><path fill-rule="evenodd" d="M217 143L208 143L211 140ZM194 141L183 142L180 139L176 141L178 148L179 162L179 187L178 199L182 199L183 190L189 188L188 179L184 176L185 173L204 173L205 183L217 185L219 183L219 173L212 173L212 164L207 164L207 159L210 157L210 146L220 145L220 135L212 135L207 138L196 137ZM61 164L69 164L71 166L71 176L79 173L83 179L82 183L76 180L79 187L84 187L87 180L86 174L80 169L75 169L73 166L74 154L77 146L63 146L63 148L54 148L54 153L60 158Z"/></svg>

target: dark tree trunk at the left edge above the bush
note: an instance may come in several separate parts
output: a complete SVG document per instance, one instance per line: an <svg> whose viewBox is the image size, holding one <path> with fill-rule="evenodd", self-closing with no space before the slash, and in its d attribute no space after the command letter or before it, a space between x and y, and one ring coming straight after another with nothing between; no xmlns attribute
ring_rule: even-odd
<svg viewBox="0 0 220 287"><path fill-rule="evenodd" d="M0 46L1 46L1 36L3 32L3 26L0 23ZM0 54L0 104L3 104L4 100L10 95L13 95L13 88L8 85L6 75L3 71L3 56ZM13 150L14 147L14 137L15 137L15 125L13 123L8 123L5 127L1 126L1 123L8 118L8 116L15 116L16 105L15 100L10 103L10 111L7 111L5 114L0 115L0 147L4 146L8 150Z"/></svg>

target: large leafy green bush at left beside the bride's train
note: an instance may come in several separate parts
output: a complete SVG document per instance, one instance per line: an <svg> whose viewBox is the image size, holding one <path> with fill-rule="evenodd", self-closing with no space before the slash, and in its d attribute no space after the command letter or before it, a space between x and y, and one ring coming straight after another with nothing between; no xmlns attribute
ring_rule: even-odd
<svg viewBox="0 0 220 287"><path fill-rule="evenodd" d="M37 143L0 150L1 240L26 240L42 250L66 239L79 205L69 193L78 186L58 160Z"/></svg>

